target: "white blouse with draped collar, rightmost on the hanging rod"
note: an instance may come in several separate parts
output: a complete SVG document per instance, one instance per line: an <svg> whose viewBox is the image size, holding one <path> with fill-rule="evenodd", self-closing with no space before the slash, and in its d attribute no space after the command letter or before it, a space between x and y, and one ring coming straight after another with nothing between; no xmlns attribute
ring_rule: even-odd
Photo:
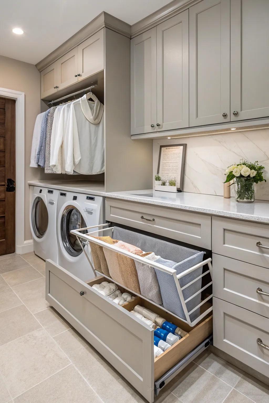
<svg viewBox="0 0 269 403"><path fill-rule="evenodd" d="M65 137L65 170L85 175L104 172L104 105L84 95L73 102Z"/></svg>

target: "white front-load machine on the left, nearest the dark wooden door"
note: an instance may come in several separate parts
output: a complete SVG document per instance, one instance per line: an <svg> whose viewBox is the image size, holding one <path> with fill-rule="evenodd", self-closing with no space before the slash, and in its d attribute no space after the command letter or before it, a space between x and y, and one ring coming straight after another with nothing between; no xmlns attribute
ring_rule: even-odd
<svg viewBox="0 0 269 403"><path fill-rule="evenodd" d="M31 186L30 227L33 250L46 260L58 262L56 216L59 191L46 187Z"/></svg>

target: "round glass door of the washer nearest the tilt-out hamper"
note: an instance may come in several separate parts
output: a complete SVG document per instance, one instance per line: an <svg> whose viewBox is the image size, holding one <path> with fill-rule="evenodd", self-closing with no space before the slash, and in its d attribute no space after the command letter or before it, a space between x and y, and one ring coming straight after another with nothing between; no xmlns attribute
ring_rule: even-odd
<svg viewBox="0 0 269 403"><path fill-rule="evenodd" d="M77 208L67 206L61 218L61 237L63 245L70 256L79 256L82 253L81 246L77 237L70 233L73 229L85 228L87 225ZM87 233L87 230L83 231Z"/></svg>

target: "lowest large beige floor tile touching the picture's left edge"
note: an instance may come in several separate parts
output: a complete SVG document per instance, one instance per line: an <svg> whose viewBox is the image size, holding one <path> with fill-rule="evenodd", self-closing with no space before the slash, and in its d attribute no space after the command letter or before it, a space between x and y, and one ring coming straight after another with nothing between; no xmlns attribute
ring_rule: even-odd
<svg viewBox="0 0 269 403"><path fill-rule="evenodd" d="M69 364L45 329L0 347L0 372L13 398Z"/></svg>

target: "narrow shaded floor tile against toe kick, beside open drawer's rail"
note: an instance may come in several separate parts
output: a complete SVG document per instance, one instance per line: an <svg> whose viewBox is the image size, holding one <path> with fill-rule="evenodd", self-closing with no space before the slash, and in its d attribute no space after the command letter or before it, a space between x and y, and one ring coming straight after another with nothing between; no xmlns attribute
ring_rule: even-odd
<svg viewBox="0 0 269 403"><path fill-rule="evenodd" d="M194 361L196 364L199 364L202 368L208 370L211 374L233 387L243 375L243 371L240 371L227 361L224 361L224 359L217 357L217 355L207 350L200 354Z"/></svg>

